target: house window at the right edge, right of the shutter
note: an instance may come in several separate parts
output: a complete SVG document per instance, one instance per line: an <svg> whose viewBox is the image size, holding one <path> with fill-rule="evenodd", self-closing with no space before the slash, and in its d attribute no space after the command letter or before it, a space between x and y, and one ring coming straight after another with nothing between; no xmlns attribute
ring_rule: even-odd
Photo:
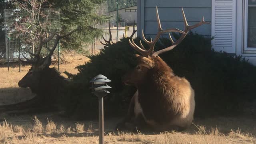
<svg viewBox="0 0 256 144"><path fill-rule="evenodd" d="M256 50L256 0L245 0L244 50Z"/></svg>

